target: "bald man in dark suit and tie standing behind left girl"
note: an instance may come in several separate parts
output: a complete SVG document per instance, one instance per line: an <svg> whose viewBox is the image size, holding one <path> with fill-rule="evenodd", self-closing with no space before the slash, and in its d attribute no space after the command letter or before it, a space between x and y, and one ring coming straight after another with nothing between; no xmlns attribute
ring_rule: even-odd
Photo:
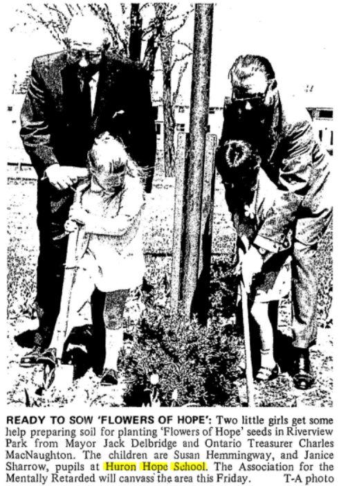
<svg viewBox="0 0 339 486"><path fill-rule="evenodd" d="M64 223L73 185L86 177L87 152L108 128L143 168L152 189L156 132L149 74L109 52L109 36L98 17L73 17L67 50L33 61L21 110L21 139L38 175L37 266L39 328L22 366L37 362L55 327L62 294L67 236Z"/></svg>

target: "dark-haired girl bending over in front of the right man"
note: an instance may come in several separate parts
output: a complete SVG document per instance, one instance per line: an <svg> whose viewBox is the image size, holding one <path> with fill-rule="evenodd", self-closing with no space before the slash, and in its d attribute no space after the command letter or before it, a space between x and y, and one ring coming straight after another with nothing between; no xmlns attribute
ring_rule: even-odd
<svg viewBox="0 0 339 486"><path fill-rule="evenodd" d="M218 170L237 231L240 269L241 258L254 244L264 219L279 204L282 191L260 168L259 156L244 141L228 141L219 148ZM274 379L280 372L273 354L273 327L268 306L277 303L291 288L290 253L291 234L288 233L286 239L275 246L275 253L262 255L262 271L255 276L250 288L250 312L259 327L261 341L257 381Z"/></svg>

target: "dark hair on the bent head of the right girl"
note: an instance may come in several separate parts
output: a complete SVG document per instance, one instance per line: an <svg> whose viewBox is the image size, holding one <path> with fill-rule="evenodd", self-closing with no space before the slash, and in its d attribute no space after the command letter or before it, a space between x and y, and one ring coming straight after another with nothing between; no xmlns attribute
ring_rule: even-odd
<svg viewBox="0 0 339 486"><path fill-rule="evenodd" d="M251 145L242 140L227 141L219 147L218 167L223 183L251 188L257 181L260 157Z"/></svg>

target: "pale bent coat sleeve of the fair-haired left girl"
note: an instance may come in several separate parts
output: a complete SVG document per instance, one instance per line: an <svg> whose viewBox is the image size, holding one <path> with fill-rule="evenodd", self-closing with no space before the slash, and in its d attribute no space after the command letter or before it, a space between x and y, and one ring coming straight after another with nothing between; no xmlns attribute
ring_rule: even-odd
<svg viewBox="0 0 339 486"><path fill-rule="evenodd" d="M125 235L136 224L144 205L143 186L138 181L123 190L120 208L116 216L110 217L109 214L98 216L90 213L84 231L95 235Z"/></svg>

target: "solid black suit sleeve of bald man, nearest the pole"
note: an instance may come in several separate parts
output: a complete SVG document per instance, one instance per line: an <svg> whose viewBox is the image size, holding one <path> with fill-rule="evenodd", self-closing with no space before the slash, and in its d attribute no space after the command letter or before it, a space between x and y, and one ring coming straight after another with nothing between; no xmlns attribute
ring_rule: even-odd
<svg viewBox="0 0 339 486"><path fill-rule="evenodd" d="M151 192L156 163L156 127L147 71L136 71L130 91L133 111L129 122L131 157L143 168L145 191Z"/></svg>

